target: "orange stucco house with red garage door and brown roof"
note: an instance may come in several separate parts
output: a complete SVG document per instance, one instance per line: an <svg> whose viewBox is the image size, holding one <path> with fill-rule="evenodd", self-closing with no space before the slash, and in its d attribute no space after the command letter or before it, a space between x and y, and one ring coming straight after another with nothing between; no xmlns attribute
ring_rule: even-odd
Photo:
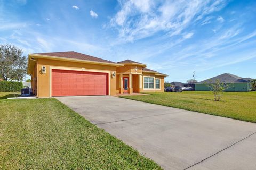
<svg viewBox="0 0 256 170"><path fill-rule="evenodd" d="M146 64L115 63L77 52L29 54L27 72L37 97L164 92L167 76Z"/></svg>

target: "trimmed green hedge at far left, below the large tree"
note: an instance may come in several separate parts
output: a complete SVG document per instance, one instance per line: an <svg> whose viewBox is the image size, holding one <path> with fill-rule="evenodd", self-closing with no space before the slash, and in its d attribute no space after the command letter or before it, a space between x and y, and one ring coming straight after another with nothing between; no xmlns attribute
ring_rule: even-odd
<svg viewBox="0 0 256 170"><path fill-rule="evenodd" d="M0 91L21 91L22 88L22 82L0 81Z"/></svg>

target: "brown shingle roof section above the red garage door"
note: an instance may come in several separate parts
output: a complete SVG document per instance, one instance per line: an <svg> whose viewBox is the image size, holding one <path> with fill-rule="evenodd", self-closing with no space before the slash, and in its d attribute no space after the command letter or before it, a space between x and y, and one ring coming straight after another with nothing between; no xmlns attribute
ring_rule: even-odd
<svg viewBox="0 0 256 170"><path fill-rule="evenodd" d="M75 59L79 59L79 60L89 60L89 61L94 61L94 62L115 63L115 62L111 62L111 61L108 61L108 60L104 60L102 58L93 57L93 56L90 56L90 55L77 53L77 52L74 52L74 51L53 52L53 53L34 53L34 54L47 55L47 56L53 56L53 57L75 58Z"/></svg>

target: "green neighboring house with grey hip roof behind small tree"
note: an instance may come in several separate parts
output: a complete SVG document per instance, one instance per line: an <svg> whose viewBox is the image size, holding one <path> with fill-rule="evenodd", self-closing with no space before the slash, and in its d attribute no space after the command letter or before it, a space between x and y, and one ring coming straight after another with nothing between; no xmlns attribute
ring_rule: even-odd
<svg viewBox="0 0 256 170"><path fill-rule="evenodd" d="M219 80L221 83L226 83L229 88L225 91L250 91L251 90L251 78L241 78L237 75L224 73L216 77L198 82L195 84L196 91L209 91L209 84L215 83Z"/></svg>

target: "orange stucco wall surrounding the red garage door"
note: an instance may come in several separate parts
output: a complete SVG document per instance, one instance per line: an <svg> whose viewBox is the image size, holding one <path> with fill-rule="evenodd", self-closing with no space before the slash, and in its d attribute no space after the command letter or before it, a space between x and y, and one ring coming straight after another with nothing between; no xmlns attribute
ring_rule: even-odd
<svg viewBox="0 0 256 170"><path fill-rule="evenodd" d="M41 73L41 67L46 67L46 73ZM81 69L85 70L97 70L97 71L108 71L110 74L116 72L115 66L108 65L98 65L98 64L87 64L87 63L78 63L78 62L68 62L68 61L57 61L57 60L47 60L47 59L38 59L37 71L37 92L38 97L49 97L50 96L50 66L52 67L64 67L68 69ZM116 95L116 77L112 78L110 76L110 95Z"/></svg>

